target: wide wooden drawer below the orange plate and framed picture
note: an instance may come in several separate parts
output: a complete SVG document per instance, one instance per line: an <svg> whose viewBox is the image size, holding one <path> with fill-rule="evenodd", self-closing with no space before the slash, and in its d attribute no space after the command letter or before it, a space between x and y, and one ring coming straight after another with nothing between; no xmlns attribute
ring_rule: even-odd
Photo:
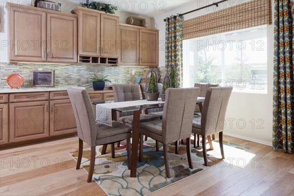
<svg viewBox="0 0 294 196"><path fill-rule="evenodd" d="M49 99L49 92L12 93L9 98L10 102L43 101Z"/></svg>

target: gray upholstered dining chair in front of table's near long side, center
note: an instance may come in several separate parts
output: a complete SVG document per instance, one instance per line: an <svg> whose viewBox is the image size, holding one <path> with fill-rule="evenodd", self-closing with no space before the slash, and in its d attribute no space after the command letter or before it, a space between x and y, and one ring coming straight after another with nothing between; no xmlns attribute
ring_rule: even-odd
<svg viewBox="0 0 294 196"><path fill-rule="evenodd" d="M162 120L140 123L140 155L143 159L143 135L163 143L163 154L166 175L171 177L167 144L169 142L186 139L189 167L193 169L191 161L190 137L194 108L199 88L169 88L166 91L166 101Z"/></svg>

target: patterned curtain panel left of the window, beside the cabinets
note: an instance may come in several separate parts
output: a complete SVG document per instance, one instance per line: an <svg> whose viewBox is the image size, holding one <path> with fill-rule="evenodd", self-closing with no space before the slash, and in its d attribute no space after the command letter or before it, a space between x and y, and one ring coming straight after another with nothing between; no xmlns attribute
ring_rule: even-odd
<svg viewBox="0 0 294 196"><path fill-rule="evenodd" d="M177 87L183 86L183 17L166 18L166 69L176 67Z"/></svg>

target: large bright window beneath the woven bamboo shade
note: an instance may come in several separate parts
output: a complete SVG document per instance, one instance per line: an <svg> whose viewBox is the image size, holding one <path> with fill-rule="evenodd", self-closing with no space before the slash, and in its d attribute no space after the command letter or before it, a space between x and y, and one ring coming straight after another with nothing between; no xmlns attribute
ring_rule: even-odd
<svg viewBox="0 0 294 196"><path fill-rule="evenodd" d="M184 40L183 85L219 83L233 91L267 93L267 27Z"/></svg>

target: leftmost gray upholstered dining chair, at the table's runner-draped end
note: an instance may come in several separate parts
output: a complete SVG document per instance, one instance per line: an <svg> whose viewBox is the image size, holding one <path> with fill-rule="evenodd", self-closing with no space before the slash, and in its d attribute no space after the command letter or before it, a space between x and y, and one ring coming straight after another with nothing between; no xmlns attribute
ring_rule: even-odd
<svg viewBox="0 0 294 196"><path fill-rule="evenodd" d="M87 182L91 182L95 165L96 146L114 144L123 140L126 140L127 143L127 160L128 168L130 168L131 128L115 121L112 122L112 126L97 123L91 100L86 90L70 88L68 89L68 94L73 106L79 140L76 169L78 170L81 165L83 142L91 146L90 168L87 179ZM112 153L114 153L113 150Z"/></svg>

